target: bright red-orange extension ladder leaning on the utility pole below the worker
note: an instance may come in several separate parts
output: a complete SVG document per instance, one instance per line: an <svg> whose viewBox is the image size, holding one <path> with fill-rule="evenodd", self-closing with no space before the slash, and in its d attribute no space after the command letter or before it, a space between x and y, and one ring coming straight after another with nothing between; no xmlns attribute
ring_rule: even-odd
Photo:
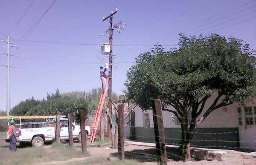
<svg viewBox="0 0 256 165"><path fill-rule="evenodd" d="M103 104L105 101L105 97L106 97L106 93L107 93L107 86L108 86L108 77L106 78L106 86L105 86L105 91L102 92L100 99L99 99L99 105L98 105L98 109L96 112L96 116L93 122L93 131L90 137L90 142L94 142L94 138L96 136L96 132L97 132L97 128L99 125L99 119L101 116L101 112L102 112L102 108L103 108Z"/></svg>

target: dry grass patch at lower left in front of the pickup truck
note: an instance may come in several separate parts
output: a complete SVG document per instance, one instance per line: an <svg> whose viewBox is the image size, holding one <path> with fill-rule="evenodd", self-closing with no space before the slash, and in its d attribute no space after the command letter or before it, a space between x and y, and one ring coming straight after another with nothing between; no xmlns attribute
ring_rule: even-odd
<svg viewBox="0 0 256 165"><path fill-rule="evenodd" d="M61 161L70 158L84 157L89 154L82 154L70 148L67 144L53 143L52 147L28 147L18 148L16 152L9 151L9 148L0 148L0 164L34 164L41 162ZM3 161L4 160L4 161Z"/></svg>

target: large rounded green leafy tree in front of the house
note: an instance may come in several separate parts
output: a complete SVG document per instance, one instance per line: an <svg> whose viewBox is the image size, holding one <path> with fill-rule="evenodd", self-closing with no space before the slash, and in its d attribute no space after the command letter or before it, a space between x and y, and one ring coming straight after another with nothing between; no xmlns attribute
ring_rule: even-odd
<svg viewBox="0 0 256 165"><path fill-rule="evenodd" d="M179 48L165 51L156 46L141 54L128 71L127 96L144 111L154 108L153 99L176 109L165 110L180 122L182 159L190 159L194 131L212 111L254 96L255 51L242 43L217 34L198 38L180 34ZM210 97L214 101L205 107Z"/></svg>

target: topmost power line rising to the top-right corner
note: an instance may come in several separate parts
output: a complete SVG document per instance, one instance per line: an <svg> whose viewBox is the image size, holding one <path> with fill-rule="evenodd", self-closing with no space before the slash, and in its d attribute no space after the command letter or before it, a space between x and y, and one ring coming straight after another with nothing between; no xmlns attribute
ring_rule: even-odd
<svg viewBox="0 0 256 165"><path fill-rule="evenodd" d="M186 27L181 28L181 29L179 29L179 30L177 30L177 31L171 32L171 33L166 34L166 35L164 35L164 36L158 37L158 38L156 38L156 39L154 39L154 40L148 41L147 43L151 43L151 42L153 42L153 41L155 41L155 40L158 40L158 39L163 38L163 37L166 37L166 36L168 36L168 35L170 35L170 34L179 32L179 31L181 31L181 30L183 30L183 29L186 29L186 28L189 28L189 27L191 27L191 26L194 26L194 25L196 25L196 24L198 24L198 23L202 23L202 22L204 22L204 21L210 20L210 19L212 19L212 18L214 18L214 17L217 17L217 16L219 16L219 15L222 15L222 14L225 14L225 13L227 13L227 12L233 11L233 10L235 10L235 9L241 8L242 6L245 6L245 5L247 5L247 4L253 3L253 2L255 2L255 1L256 1L256 0L253 0L253 1L249 2L249 3L245 3L245 4L241 5L241 6L236 7L236 8L230 9L230 10L228 10L228 11L224 11L224 12L222 12L222 13L220 13L220 14L216 14L216 15L214 15L214 16L212 16L212 17L209 17L209 18L207 18L207 19L205 19L205 20L201 20L201 21L199 21L199 22L197 22L197 23L194 23L194 24L192 24L192 25L186 26ZM249 9L250 9L250 8L249 8ZM247 9L245 9L245 10L247 10ZM245 10L244 10L244 11L245 11ZM145 43L145 44L147 44L147 43ZM119 52L118 54L122 54L123 52L127 52L127 51L132 50L132 49L134 49L134 48L127 49L127 50L125 50L125 51Z"/></svg>

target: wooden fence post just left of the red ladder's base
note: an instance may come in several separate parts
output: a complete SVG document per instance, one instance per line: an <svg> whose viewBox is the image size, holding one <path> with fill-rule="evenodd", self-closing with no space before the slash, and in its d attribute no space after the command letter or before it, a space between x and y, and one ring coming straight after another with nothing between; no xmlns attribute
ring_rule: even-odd
<svg viewBox="0 0 256 165"><path fill-rule="evenodd" d="M82 152L83 154L87 153L87 137L86 137L86 132L85 132L85 116L84 116L84 109L79 110L80 114L80 129L81 129L81 141L82 141Z"/></svg>

